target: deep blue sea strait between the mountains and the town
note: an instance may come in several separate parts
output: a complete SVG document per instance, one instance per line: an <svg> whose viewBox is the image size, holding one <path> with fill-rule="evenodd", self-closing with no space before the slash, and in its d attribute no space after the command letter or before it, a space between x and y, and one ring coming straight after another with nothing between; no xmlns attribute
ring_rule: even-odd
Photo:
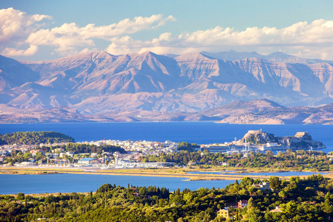
<svg viewBox="0 0 333 222"><path fill-rule="evenodd" d="M152 140L213 144L240 139L248 130L262 129L276 136L295 135L307 131L312 139L323 142L333 151L333 126L323 125L233 125L198 122L134 122L134 123L32 123L0 124L0 133L52 130L74 137L77 142L101 139Z"/></svg>

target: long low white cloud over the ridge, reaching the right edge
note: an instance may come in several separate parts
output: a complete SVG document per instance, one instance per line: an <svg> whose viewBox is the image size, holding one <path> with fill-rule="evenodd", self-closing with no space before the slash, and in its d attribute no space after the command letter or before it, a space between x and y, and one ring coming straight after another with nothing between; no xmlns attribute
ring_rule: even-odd
<svg viewBox="0 0 333 222"><path fill-rule="evenodd" d="M246 28L245 31L216 26L205 31L184 32L178 36L163 33L151 41L137 41L131 38L126 42L121 42L119 38L110 41L117 44L118 49L126 48L126 53L153 51L182 54L238 49L264 54L283 51L304 58L333 60L333 21L318 19L311 23L298 22L280 29L252 27ZM110 53L125 53L121 50L112 51L110 46L107 49Z"/></svg>

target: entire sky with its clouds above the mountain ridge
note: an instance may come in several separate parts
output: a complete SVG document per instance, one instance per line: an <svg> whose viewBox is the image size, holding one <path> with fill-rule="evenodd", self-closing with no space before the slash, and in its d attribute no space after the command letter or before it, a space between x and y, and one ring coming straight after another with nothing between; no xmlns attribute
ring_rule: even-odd
<svg viewBox="0 0 333 222"><path fill-rule="evenodd" d="M333 60L333 1L0 0L0 54L281 51Z"/></svg>

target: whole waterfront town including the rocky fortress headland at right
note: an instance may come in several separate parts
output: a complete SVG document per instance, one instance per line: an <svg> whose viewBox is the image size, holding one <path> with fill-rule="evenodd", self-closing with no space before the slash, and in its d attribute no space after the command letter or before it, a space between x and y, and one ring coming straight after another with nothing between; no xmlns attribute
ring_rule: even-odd
<svg viewBox="0 0 333 222"><path fill-rule="evenodd" d="M300 147L298 147L300 144ZM182 150L209 153L225 153L233 155L241 153L244 157L251 152L283 150L287 148L308 149L323 148L322 142L311 139L307 132L298 132L291 137L275 137L262 130L249 130L242 139L236 138L232 142L223 144L189 144L187 142L153 142L153 141L125 141L99 140L92 142L54 142L40 144L4 144L0 146L0 164L16 167L100 167L101 169L126 168L164 168L188 167L196 162L187 162L179 166L173 161L162 161L160 155L179 153ZM149 157L155 157L149 161ZM327 158L330 158L327 155ZM178 161L179 163L179 161ZM201 162L200 164L210 164ZM219 162L227 167L228 162Z"/></svg>

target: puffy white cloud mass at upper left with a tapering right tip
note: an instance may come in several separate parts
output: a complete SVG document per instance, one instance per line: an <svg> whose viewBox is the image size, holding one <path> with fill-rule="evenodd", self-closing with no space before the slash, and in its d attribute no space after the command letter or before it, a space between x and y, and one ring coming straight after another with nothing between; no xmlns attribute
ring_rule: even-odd
<svg viewBox="0 0 333 222"><path fill-rule="evenodd" d="M138 31L157 28L169 21L176 21L171 15L151 15L123 19L108 26L87 24L80 27L75 23L62 24L55 28L42 28L38 22L52 19L49 15L26 15L13 8L0 10L0 51L5 56L31 56L38 46L51 46L60 55L70 55L94 49L96 39L128 35ZM114 46L112 44L110 49ZM24 48L25 49L22 49ZM114 46L117 48L117 46ZM124 46L119 46L124 48Z"/></svg>

